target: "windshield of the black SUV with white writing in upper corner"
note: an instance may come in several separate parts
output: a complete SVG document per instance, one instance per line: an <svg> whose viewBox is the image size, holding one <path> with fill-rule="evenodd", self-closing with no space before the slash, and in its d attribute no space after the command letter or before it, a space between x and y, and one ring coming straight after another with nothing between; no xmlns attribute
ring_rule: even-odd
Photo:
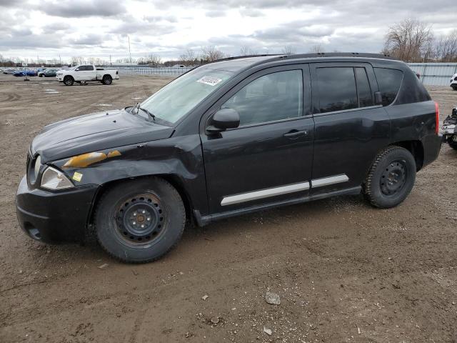
<svg viewBox="0 0 457 343"><path fill-rule="evenodd" d="M222 86L232 74L223 70L194 69L171 81L140 106L156 118L174 124Z"/></svg>

